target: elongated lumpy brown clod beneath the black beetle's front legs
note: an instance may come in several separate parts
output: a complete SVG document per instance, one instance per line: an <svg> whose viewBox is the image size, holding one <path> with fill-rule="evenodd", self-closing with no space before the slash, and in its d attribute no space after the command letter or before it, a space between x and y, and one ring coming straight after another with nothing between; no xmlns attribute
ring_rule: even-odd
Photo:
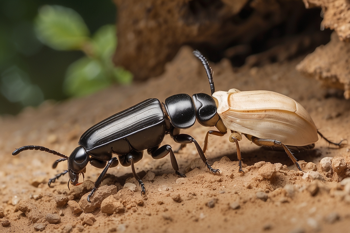
<svg viewBox="0 0 350 233"><path fill-rule="evenodd" d="M96 190L96 192L90 198L91 202L87 201L87 195L89 194L85 194L84 196L82 196L82 198L80 198L79 201L79 206L84 211L84 213L91 213L101 206L102 201L106 197L117 194L117 192L118 188L115 185L104 185Z"/></svg>

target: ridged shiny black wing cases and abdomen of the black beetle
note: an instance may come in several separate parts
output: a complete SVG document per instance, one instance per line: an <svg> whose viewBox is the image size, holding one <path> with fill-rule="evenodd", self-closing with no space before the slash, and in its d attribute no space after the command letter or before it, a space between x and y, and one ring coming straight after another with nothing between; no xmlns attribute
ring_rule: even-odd
<svg viewBox="0 0 350 233"><path fill-rule="evenodd" d="M164 136L165 116L160 102L148 99L92 126L80 137L79 145L99 157L111 154L111 147L118 154L131 149L142 151L159 145Z"/></svg>

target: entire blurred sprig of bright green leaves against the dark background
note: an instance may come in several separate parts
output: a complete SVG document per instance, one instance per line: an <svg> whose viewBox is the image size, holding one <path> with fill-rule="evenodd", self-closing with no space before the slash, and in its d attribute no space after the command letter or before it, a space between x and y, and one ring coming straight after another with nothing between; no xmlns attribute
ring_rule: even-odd
<svg viewBox="0 0 350 233"><path fill-rule="evenodd" d="M112 24L102 26L90 37L84 20L73 9L49 5L39 9L35 31L43 44L56 50L81 50L86 54L68 67L63 85L66 94L83 96L113 82L132 81L130 72L112 63L117 45L115 28Z"/></svg>

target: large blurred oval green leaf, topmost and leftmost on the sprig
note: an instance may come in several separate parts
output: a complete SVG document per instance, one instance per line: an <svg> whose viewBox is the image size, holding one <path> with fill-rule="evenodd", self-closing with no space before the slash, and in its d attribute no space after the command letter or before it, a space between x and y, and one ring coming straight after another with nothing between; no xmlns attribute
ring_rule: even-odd
<svg viewBox="0 0 350 233"><path fill-rule="evenodd" d="M56 5L45 5L39 9L35 31L43 44L56 50L82 49L90 34L75 10Z"/></svg>

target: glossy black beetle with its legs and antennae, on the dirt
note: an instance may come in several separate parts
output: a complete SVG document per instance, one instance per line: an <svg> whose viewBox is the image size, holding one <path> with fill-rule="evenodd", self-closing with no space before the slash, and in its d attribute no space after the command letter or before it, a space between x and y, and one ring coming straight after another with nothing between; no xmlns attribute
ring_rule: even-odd
<svg viewBox="0 0 350 233"><path fill-rule="evenodd" d="M202 55L197 57L209 68L207 60ZM212 80L209 81L212 83ZM84 177L89 162L92 166L103 169L87 197L89 202L107 170L117 166L120 161L122 166L131 166L135 179L141 185L142 195L145 193L145 187L135 172L134 163L142 159L144 150L147 150L154 159L161 159L170 154L175 173L186 177L178 172L179 166L172 147L170 145L160 147L166 134L170 134L176 143L180 143L180 148L188 143L194 143L208 169L212 173L220 173L218 169L213 169L208 164L202 148L193 137L180 134L180 129L193 126L196 119L200 124L208 127L215 126L219 122L216 104L210 95L198 93L191 98L187 94L176 94L168 97L164 103L160 103L158 99L147 99L92 126L80 137L79 146L69 157L43 146L23 146L16 149L12 155L25 150L40 150L61 156L62 159L56 160L52 165L53 168L56 168L59 162L68 160L68 169L50 179L49 186L66 173L69 174L72 185L81 184L78 183L79 175L82 174ZM112 157L113 154L118 158Z"/></svg>

